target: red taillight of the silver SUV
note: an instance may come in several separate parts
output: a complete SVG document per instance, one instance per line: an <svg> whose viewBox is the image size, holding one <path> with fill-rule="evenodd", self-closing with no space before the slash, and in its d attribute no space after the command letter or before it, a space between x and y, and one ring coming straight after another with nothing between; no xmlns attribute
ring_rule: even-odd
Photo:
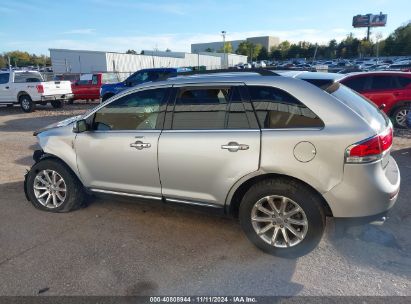
<svg viewBox="0 0 411 304"><path fill-rule="evenodd" d="M346 162L364 163L380 159L391 148L392 137L392 128L388 128L381 134L351 145L346 150Z"/></svg>

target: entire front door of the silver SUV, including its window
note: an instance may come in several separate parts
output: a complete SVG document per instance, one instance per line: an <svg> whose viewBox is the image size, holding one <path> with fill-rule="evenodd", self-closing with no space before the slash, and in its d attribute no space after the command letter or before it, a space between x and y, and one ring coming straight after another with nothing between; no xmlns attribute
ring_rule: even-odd
<svg viewBox="0 0 411 304"><path fill-rule="evenodd" d="M86 187L161 196L158 139L168 88L121 96L88 118L92 131L77 134L77 166Z"/></svg>

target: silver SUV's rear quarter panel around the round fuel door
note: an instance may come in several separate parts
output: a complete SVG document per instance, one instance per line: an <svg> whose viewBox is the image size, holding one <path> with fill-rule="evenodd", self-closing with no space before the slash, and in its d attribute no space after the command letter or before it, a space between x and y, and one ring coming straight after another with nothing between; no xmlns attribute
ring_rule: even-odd
<svg viewBox="0 0 411 304"><path fill-rule="evenodd" d="M263 129L260 171L292 176L325 193L342 181L346 148L375 135L375 131L323 90L302 80L281 78L269 85L287 91L304 103L323 120L324 127ZM294 156L295 146L303 141L315 147L315 157L309 162L301 162Z"/></svg>

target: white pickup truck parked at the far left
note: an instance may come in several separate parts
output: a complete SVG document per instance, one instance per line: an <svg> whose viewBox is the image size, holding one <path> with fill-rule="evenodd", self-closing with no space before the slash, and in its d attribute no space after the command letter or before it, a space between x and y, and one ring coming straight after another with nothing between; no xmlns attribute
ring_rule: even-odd
<svg viewBox="0 0 411 304"><path fill-rule="evenodd" d="M51 102L61 108L73 98L70 81L44 81L37 71L0 71L0 105L20 104L24 112Z"/></svg>

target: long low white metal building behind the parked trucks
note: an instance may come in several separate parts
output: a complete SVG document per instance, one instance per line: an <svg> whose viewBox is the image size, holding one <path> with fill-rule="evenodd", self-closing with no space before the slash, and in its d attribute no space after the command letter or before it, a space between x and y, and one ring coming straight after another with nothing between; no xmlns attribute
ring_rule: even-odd
<svg viewBox="0 0 411 304"><path fill-rule="evenodd" d="M117 72L131 73L144 68L205 67L218 69L247 62L236 54L191 54L184 52L143 51L144 55L115 52L50 49L54 73Z"/></svg>

